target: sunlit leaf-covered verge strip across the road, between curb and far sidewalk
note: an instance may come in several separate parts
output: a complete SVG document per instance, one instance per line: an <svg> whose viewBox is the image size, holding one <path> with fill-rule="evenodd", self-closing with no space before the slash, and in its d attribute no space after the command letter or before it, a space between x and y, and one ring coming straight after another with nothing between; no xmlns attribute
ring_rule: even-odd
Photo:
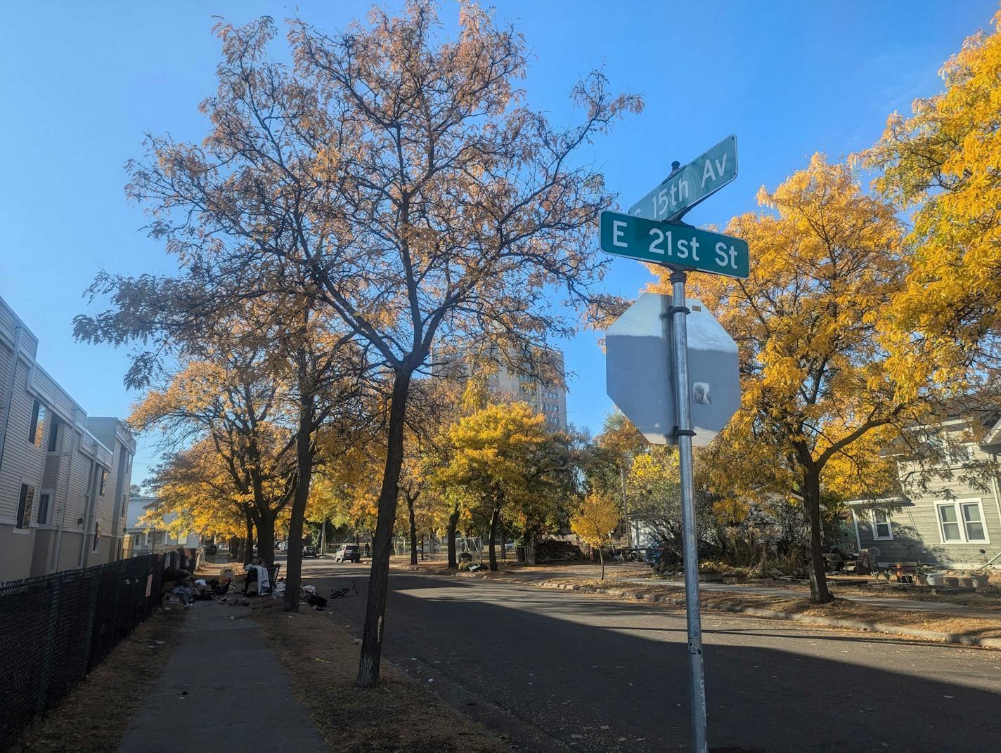
<svg viewBox="0 0 1001 753"><path fill-rule="evenodd" d="M626 594L626 598L651 600L655 597L682 601L685 590L674 586L622 584L615 581L552 579L548 584L577 586L579 589L595 589L598 592L616 591ZM871 593L869 595L872 595ZM927 612L906 609L878 607L847 599L835 599L830 604L811 604L807 598L770 596L768 594L742 594L732 591L703 591L701 602L707 609L733 610L742 607L771 609L777 612L791 612L806 616L859 620L895 625L905 632L908 628L955 633L976 638L1001 638L1001 620L988 618L961 617L946 612Z"/></svg>

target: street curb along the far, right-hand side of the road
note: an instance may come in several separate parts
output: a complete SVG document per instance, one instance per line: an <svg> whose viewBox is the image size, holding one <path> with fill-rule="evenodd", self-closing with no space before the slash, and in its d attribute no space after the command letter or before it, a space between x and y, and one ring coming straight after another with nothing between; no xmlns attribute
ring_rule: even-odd
<svg viewBox="0 0 1001 753"><path fill-rule="evenodd" d="M494 579L497 580L497 579ZM505 579L508 583L516 582L513 579ZM637 591L627 591L621 588L595 588L594 586L579 586L570 583L553 583L543 581L537 584L540 588L551 588L561 591L578 591L580 593L608 594L609 596L619 596L635 601L664 602L673 606L685 606L684 599L675 599L670 596L659 594L645 594ZM702 602L703 609L716 612L733 612L736 614L748 614L752 617L766 617L770 619L792 620L793 622L806 622L814 625L826 625L829 627L849 628L851 630L863 630L875 633L887 633L889 635L901 635L914 638L925 638L927 640L941 641L943 643L957 643L963 646L977 646L980 648L1001 649L1001 638L977 638L972 635L962 633L944 633L938 630L921 630L918 628L904 628L899 625L887 625L882 622L863 622L861 620L844 620L837 617L815 617L812 615L797 614L795 612L779 612L774 609L762 609L751 606L731 606L725 604L709 604Z"/></svg>

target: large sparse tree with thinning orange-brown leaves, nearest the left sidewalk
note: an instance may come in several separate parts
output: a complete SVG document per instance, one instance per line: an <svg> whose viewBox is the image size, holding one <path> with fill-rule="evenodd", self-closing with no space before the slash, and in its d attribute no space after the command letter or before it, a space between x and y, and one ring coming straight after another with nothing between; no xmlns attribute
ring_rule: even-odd
<svg viewBox="0 0 1001 753"><path fill-rule="evenodd" d="M523 35L472 2L454 38L430 0L334 34L293 19L280 56L269 17L216 33L208 132L150 136L128 193L185 272L212 272L206 299L271 292L263 271L295 270L293 303L339 319L391 382L358 669L373 686L411 382L442 339L530 348L607 308L591 236L615 196L581 154L642 100L595 71L571 92L579 122L553 125L525 101Z"/></svg>

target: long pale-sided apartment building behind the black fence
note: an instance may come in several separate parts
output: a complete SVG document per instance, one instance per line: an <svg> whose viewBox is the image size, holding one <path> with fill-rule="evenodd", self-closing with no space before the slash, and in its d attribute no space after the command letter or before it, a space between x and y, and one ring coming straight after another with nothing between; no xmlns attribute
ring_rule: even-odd
<svg viewBox="0 0 1001 753"><path fill-rule="evenodd" d="M135 439L87 416L37 349L0 298L0 582L121 556Z"/></svg>

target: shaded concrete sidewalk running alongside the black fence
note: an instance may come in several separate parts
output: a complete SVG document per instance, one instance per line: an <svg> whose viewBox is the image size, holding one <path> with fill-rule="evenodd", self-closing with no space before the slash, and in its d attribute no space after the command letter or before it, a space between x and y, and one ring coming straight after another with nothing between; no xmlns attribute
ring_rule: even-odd
<svg viewBox="0 0 1001 753"><path fill-rule="evenodd" d="M328 750L248 607L198 601L119 753Z"/></svg>

